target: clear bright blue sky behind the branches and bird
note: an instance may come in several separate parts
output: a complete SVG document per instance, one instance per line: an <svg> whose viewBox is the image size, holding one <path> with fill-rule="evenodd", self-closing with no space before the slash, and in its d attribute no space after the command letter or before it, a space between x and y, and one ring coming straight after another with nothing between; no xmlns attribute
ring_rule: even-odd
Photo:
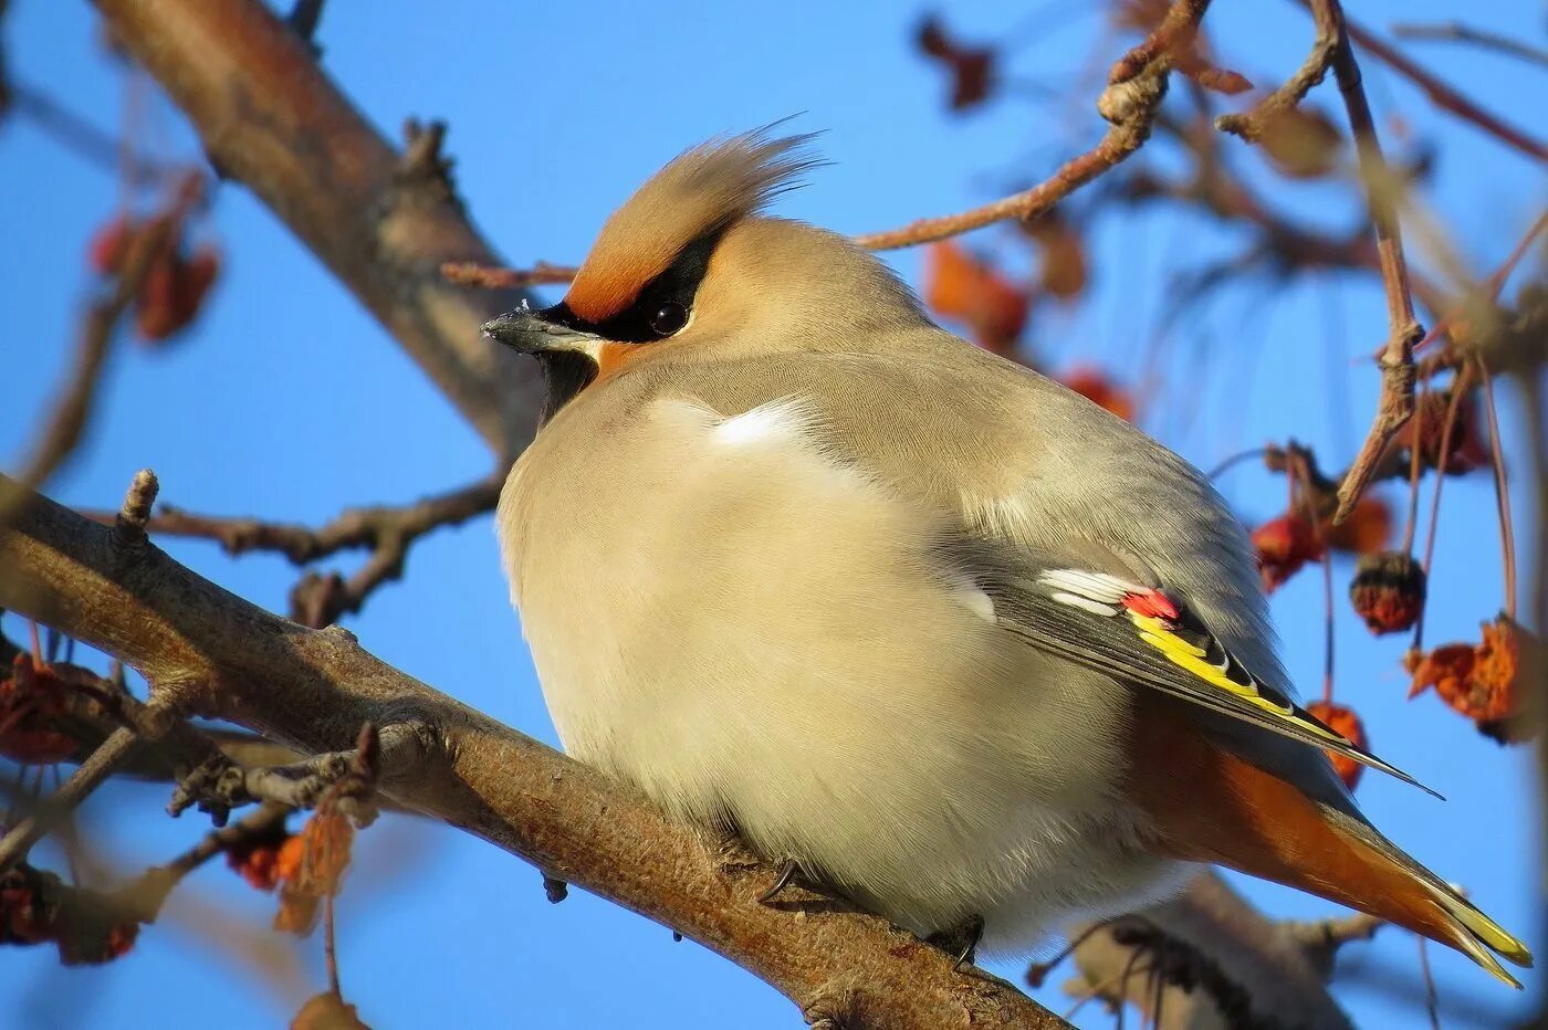
<svg viewBox="0 0 1548 1030"><path fill-rule="evenodd" d="M331 5L320 42L330 73L387 131L406 116L450 122L449 150L471 210L512 263L526 264L579 260L605 213L683 147L797 111L800 128L824 130L819 148L833 165L786 196L780 212L839 230L890 227L1040 178L1101 130L1090 101L1118 45L1098 15L1081 12L1085 6L952 5L949 22L969 39L1014 34L1015 79L1073 97L1048 104L1015 88L968 118L944 111L943 82L912 53L920 9L882 2L517 9L489 0L378 0ZM15 77L113 125L122 76L101 56L90 6L14 0L12 8L3 31ZM1272 84L1299 63L1310 26L1294 5L1217 8L1207 23L1232 67ZM1358 8L1376 26L1454 12L1440 0ZM1529 3L1472 5L1468 15L1511 34L1540 31L1540 9ZM1471 96L1548 136L1542 105L1520 104L1540 94L1540 73L1463 48L1413 49ZM1427 209L1475 269L1492 266L1536 215L1540 173L1438 116L1373 62L1365 68L1384 128L1399 111L1420 141L1438 145ZM1330 87L1316 96L1331 110ZM169 108L159 110L156 128L172 152L195 153ZM1348 224L1354 209L1342 187L1286 189L1240 144L1226 145L1285 210ZM1166 155L1156 159L1167 164ZM116 184L15 121L0 128L0 230L11 254L0 280L0 351L9 373L0 467L14 469L63 374L88 288L85 240L113 210ZM164 351L118 348L93 433L51 484L54 496L113 506L130 475L152 466L166 501L316 523L351 504L407 500L488 470L481 444L410 360L240 187L218 192L211 235L226 254L212 303L195 331ZM972 246L1009 252L1008 238L988 230ZM1135 382L1170 277L1235 244L1195 217L1107 218L1091 235L1091 302L1039 311L1031 339L1056 368L1099 362ZM895 261L916 278L916 254ZM1372 370L1351 359L1382 336L1381 294L1368 278L1303 277L1228 291L1156 343L1166 387L1147 427L1206 467L1286 436L1314 444L1337 467L1353 453L1375 396ZM1512 397L1505 401L1512 425ZM1248 518L1282 507L1282 484L1252 469L1232 473L1224 489ZM1519 493L1519 521L1528 526ZM1454 481L1446 495L1432 642L1475 639L1502 592L1488 479ZM277 558L232 561L200 543L169 549L279 609L297 575ZM1342 594L1348 569L1336 574ZM1291 671L1313 693L1322 665L1319 577L1294 580L1276 595L1274 614ZM406 580L373 597L350 625L406 671L554 741L488 520L423 540ZM8 617L5 629L15 637L23 626ZM1339 602L1339 697L1359 707L1385 758L1450 800L1441 804L1367 776L1361 803L1399 844L1540 945L1529 755L1483 741L1433 697L1404 702L1401 646L1370 639ZM163 803L161 789L104 792L87 806L98 846L125 871L169 858L201 826L192 815L164 818ZM1243 886L1286 917L1334 911L1279 888ZM8 951L0 996L20 999L22 1024L36 1027L215 1019L234 1030L271 1027L324 982L320 943L269 939L271 911L271 899L209 868L173 897L164 923L146 931L130 957L60 970L45 950ZM1466 960L1441 948L1430 954L1449 1001L1447 1025L1523 1015L1540 993L1536 976L1517 998ZM703 948L673 943L661 926L580 892L550 906L534 869L409 820L385 818L361 837L341 902L341 956L347 994L379 1027L799 1025L779 994ZM1364 974L1339 993L1362 1025L1412 1025L1415 1010L1395 1007L1379 985L1410 982L1415 959L1413 937L1399 931L1350 950L1348 965ZM1051 977L1054 988L1060 981ZM1056 990L1045 993L1065 1007ZM1107 1025L1091 1010L1084 1018Z"/></svg>

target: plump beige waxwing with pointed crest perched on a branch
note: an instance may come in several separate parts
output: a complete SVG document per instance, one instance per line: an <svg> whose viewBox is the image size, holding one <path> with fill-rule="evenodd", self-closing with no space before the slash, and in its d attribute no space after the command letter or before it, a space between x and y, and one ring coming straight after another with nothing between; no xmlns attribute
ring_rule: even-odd
<svg viewBox="0 0 1548 1030"><path fill-rule="evenodd" d="M483 326L546 380L495 524L565 750L960 957L1218 865L1520 987L1333 770L1413 783L1296 701L1209 481L768 213L816 164L689 148Z"/></svg>

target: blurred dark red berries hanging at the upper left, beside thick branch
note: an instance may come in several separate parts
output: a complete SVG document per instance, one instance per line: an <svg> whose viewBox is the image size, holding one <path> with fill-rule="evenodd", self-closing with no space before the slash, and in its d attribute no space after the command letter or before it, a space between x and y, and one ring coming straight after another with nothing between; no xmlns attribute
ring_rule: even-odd
<svg viewBox="0 0 1548 1030"><path fill-rule="evenodd" d="M172 217L132 220L118 215L91 237L91 269L99 275L121 274L136 238ZM181 229L181 224L175 229ZM156 254L149 257L150 264L135 294L135 326L142 340L166 340L194 322L220 274L218 251L201 244L189 252L180 237L180 232L169 232Z"/></svg>

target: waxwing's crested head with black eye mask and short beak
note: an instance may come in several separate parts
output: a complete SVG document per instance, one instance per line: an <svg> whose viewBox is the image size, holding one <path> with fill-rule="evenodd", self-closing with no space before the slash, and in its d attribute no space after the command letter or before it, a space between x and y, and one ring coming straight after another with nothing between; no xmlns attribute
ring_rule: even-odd
<svg viewBox="0 0 1548 1030"><path fill-rule="evenodd" d="M810 139L765 130L683 153L613 212L562 302L503 314L485 334L543 360L551 413L666 348L694 360L854 350L872 331L921 323L872 254L762 215L817 164Z"/></svg>

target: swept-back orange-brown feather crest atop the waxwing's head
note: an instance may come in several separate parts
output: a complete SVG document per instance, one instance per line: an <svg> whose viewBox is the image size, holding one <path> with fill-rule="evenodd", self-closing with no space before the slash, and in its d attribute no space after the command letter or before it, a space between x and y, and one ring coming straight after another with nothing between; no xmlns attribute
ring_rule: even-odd
<svg viewBox="0 0 1548 1030"><path fill-rule="evenodd" d="M811 135L769 136L772 127L717 138L681 153L615 210L598 234L565 303L602 322L628 308L690 243L755 215L820 164Z"/></svg>

